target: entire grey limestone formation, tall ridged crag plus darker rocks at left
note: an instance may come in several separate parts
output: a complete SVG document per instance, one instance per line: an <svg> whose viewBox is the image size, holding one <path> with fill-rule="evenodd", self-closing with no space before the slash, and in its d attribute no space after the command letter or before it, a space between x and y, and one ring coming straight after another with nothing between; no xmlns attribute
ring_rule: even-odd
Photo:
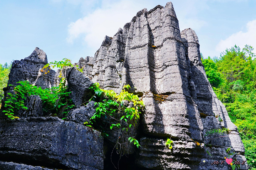
<svg viewBox="0 0 256 170"><path fill-rule="evenodd" d="M14 62L10 73L14 79L8 84L28 80L45 88L56 85L53 71L47 79L39 74L46 63L45 53L36 48L25 60ZM46 161L49 169L107 170L118 165L119 169L230 170L227 163L211 165L225 161L227 147L232 148L230 152L240 153L233 159L246 161L238 130L206 77L198 37L190 28L180 32L171 2L139 11L113 38L105 36L93 58L80 58L78 65L84 68L84 74L75 68L63 70L70 97L77 106L69 113L68 121L52 117L0 120L0 169L29 166L27 156L35 166L45 166ZM128 157L115 154L111 144L114 138L104 138L103 144L99 132L81 125L94 112L92 104L82 106L92 95L88 89L92 82L117 92L129 84L130 92L144 101L145 112L134 130L141 147L133 148ZM8 90L12 89L5 92ZM27 104L30 106L29 101ZM230 130L225 137L207 135L212 129L222 128ZM108 132L116 137L115 131ZM173 141L172 149L165 146L167 138ZM12 155L20 160L11 159ZM240 168L247 170L246 162Z"/></svg>

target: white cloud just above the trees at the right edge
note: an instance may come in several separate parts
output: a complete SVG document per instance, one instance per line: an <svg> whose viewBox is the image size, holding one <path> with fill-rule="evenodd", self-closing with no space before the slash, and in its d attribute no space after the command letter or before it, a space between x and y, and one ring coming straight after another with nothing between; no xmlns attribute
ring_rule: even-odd
<svg viewBox="0 0 256 170"><path fill-rule="evenodd" d="M237 32L230 35L225 40L220 40L219 44L216 46L218 52L225 51L227 48L233 47L235 44L241 49L246 45L251 45L256 49L256 19L250 21L246 24L247 32ZM256 51L254 50L254 53Z"/></svg>

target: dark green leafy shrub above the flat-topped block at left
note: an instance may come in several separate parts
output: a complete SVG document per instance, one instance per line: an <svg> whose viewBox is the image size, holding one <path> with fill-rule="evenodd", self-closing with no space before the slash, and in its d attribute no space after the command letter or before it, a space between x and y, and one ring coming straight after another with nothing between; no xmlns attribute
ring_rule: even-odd
<svg viewBox="0 0 256 170"><path fill-rule="evenodd" d="M18 118L14 116L15 111L19 109L27 109L24 105L28 96L38 95L42 99L43 110L49 115L61 113L66 115L69 110L74 107L72 100L69 98L70 92L66 92L66 87L62 87L64 80L58 87L50 89L42 89L41 87L33 86L28 81L19 81L20 85L14 87L14 94L8 93L5 101L5 115L10 119ZM65 119L65 118L63 118Z"/></svg>

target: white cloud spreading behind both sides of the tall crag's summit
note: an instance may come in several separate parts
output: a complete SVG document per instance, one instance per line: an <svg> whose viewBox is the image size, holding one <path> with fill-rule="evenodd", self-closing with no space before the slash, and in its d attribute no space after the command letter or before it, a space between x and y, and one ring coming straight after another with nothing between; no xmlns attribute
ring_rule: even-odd
<svg viewBox="0 0 256 170"><path fill-rule="evenodd" d="M94 1L99 2L99 0ZM209 8L206 2L201 0L186 0L186 3L180 0L172 2L179 20L180 30L192 28L198 31L207 25L206 21L198 17L199 10ZM117 33L118 28L123 28L124 24L130 22L138 11L143 8L150 10L158 4L165 6L166 0L102 0L96 10L84 13L84 17L69 24L66 40L73 43L82 39L86 49L96 51L105 35L113 36Z"/></svg>

